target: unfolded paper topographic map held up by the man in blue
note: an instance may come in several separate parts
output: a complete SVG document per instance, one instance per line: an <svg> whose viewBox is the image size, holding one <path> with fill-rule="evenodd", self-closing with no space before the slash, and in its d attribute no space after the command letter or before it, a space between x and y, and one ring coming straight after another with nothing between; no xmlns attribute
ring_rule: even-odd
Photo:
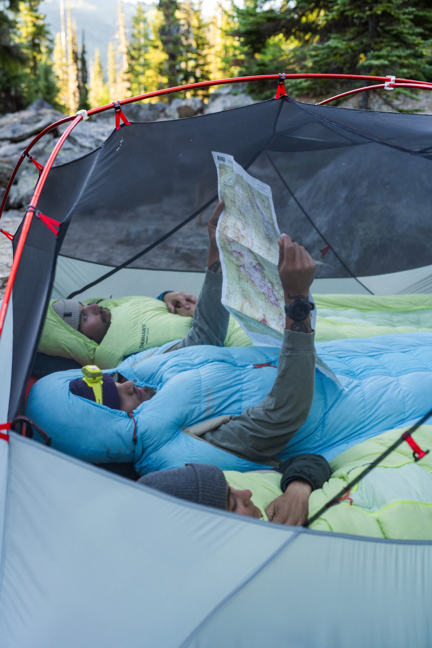
<svg viewBox="0 0 432 648"><path fill-rule="evenodd" d="M222 303L255 345L280 347L285 328L280 284L279 226L271 188L249 174L233 156L212 152L218 169L219 200L225 207L216 230L222 264ZM309 295L313 301L312 295ZM316 308L312 311L315 328ZM341 385L317 356L316 367Z"/></svg>

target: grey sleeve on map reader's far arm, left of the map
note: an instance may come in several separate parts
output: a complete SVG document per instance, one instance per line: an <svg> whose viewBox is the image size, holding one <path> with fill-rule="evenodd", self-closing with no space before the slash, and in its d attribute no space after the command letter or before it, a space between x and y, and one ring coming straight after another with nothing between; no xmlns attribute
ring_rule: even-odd
<svg viewBox="0 0 432 648"><path fill-rule="evenodd" d="M194 310L192 329L178 348L197 345L222 347L227 336L229 312L221 303L222 274L205 271L205 280Z"/></svg>

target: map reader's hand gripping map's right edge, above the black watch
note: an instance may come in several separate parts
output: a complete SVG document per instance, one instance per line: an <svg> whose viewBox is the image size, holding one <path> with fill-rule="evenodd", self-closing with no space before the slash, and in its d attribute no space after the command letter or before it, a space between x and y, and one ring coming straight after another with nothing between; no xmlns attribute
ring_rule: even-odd
<svg viewBox="0 0 432 648"><path fill-rule="evenodd" d="M287 297L290 299L297 295L308 298L315 277L315 263L312 257L303 246L293 243L287 234L282 234L277 242L279 243L277 269L284 289L285 301L287 302Z"/></svg>

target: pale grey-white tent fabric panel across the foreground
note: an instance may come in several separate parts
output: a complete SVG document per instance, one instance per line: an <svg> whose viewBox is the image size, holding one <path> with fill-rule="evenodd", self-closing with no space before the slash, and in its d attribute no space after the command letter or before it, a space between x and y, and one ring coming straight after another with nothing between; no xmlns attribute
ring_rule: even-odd
<svg viewBox="0 0 432 648"><path fill-rule="evenodd" d="M1 648L432 645L431 542L208 509L13 433L0 476Z"/></svg>

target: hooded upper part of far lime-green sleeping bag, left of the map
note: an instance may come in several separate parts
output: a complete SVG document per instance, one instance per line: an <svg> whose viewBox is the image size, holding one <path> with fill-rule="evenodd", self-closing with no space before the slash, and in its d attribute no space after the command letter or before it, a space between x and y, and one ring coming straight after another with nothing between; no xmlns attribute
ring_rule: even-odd
<svg viewBox="0 0 432 648"><path fill-rule="evenodd" d="M82 303L98 301L111 311L111 325L100 344L63 322L49 303L39 345L41 353L73 358L82 365L96 364L100 369L117 367L125 356L160 347L171 340L181 340L192 326L192 318L173 315L165 302L152 297L93 297ZM230 318L225 346L252 346L240 325Z"/></svg>

